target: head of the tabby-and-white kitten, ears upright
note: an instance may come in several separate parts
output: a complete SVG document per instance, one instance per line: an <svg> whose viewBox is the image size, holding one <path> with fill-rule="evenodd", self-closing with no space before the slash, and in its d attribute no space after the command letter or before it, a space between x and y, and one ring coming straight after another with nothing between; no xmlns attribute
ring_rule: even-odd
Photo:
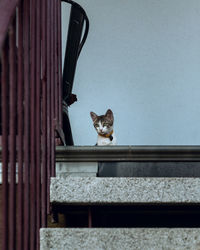
<svg viewBox="0 0 200 250"><path fill-rule="evenodd" d="M106 135L112 132L114 117L113 112L110 109L107 110L105 115L98 116L94 112L90 112L90 116L98 134Z"/></svg>

